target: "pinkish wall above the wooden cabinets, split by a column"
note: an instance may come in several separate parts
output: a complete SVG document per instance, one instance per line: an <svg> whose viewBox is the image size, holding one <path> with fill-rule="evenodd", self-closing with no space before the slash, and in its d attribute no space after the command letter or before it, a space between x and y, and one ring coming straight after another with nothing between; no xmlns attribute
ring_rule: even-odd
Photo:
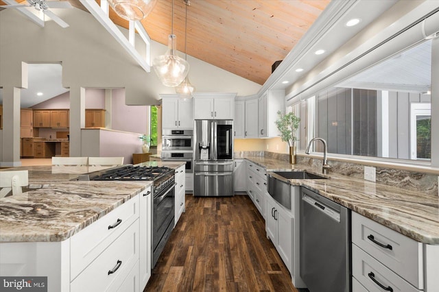
<svg viewBox="0 0 439 292"><path fill-rule="evenodd" d="M44 108L48 110L70 108L70 93L62 93L62 95L47 99L47 101L36 104L35 106L32 106L32 108ZM97 88L86 88L85 108L105 108L105 90Z"/></svg>

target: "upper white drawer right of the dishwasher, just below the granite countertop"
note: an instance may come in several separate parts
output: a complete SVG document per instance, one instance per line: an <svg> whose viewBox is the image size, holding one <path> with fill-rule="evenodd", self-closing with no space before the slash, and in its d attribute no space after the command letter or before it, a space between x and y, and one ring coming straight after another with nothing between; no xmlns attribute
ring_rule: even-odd
<svg viewBox="0 0 439 292"><path fill-rule="evenodd" d="M356 212L352 212L352 242L412 283L414 287L423 289L421 243Z"/></svg>

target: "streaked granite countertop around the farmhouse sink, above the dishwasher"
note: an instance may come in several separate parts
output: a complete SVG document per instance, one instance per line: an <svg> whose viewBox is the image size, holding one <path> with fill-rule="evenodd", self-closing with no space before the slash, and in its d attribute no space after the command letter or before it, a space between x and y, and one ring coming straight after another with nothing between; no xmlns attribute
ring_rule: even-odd
<svg viewBox="0 0 439 292"><path fill-rule="evenodd" d="M266 171L306 170L322 175L322 169L309 165L289 165L287 161L245 157ZM369 182L348 175L331 173L327 180L287 180L304 186L364 217L420 243L439 244L439 197L405 188Z"/></svg>

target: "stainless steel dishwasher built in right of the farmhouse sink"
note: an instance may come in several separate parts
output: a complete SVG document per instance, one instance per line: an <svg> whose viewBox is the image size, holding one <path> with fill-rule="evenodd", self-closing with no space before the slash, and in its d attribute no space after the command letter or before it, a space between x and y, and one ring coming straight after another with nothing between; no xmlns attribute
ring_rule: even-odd
<svg viewBox="0 0 439 292"><path fill-rule="evenodd" d="M310 292L351 290L351 214L302 187L300 277Z"/></svg>

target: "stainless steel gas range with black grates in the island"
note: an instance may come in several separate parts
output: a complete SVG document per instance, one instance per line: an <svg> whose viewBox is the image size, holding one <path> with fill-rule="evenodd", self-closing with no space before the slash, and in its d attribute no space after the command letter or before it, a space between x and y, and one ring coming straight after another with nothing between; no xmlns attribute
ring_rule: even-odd
<svg viewBox="0 0 439 292"><path fill-rule="evenodd" d="M123 165L80 175L78 180L135 180L152 184L152 267L157 263L171 231L175 217L175 172L169 167Z"/></svg>

